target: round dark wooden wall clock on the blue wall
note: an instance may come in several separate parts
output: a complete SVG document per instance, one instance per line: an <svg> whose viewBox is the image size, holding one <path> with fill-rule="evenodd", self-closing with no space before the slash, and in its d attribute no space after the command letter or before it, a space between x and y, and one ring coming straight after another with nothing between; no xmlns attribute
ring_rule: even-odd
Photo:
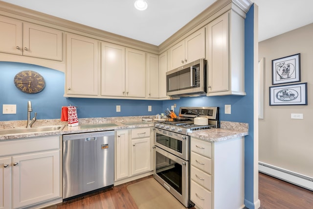
<svg viewBox="0 0 313 209"><path fill-rule="evenodd" d="M23 70L15 75L14 84L24 93L39 93L45 88L45 79L38 72Z"/></svg>

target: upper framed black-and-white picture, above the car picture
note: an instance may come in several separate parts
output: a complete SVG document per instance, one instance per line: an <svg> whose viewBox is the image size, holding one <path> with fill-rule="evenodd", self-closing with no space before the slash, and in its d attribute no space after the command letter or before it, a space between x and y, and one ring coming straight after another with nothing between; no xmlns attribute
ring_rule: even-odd
<svg viewBox="0 0 313 209"><path fill-rule="evenodd" d="M272 85L301 81L300 53L272 60Z"/></svg>

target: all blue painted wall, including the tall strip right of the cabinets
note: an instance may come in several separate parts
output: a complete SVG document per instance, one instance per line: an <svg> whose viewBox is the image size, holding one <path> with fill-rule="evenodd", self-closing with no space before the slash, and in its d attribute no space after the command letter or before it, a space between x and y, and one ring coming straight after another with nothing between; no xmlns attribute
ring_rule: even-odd
<svg viewBox="0 0 313 209"><path fill-rule="evenodd" d="M212 96L212 97L184 97L179 100L152 101L127 99L91 99L65 98L63 72L40 66L0 62L0 106L3 104L17 104L17 114L3 115L0 121L25 120L27 118L27 101L32 101L33 112L37 112L38 119L60 118L61 107L79 106L79 117L112 117L112 116L144 116L162 113L166 108L176 104L175 113L178 114L182 106L218 106L220 119L224 121L245 122L249 124L249 135L245 138L245 204L254 209L253 201L253 6L250 8L245 21L245 91L246 96ZM18 90L13 78L22 70L34 70L45 77L46 87L37 94L26 94ZM231 105L231 114L224 114L224 105ZM116 113L116 105L121 105L121 112ZM152 112L148 112L148 105L152 105ZM32 115L33 116L33 115Z"/></svg>

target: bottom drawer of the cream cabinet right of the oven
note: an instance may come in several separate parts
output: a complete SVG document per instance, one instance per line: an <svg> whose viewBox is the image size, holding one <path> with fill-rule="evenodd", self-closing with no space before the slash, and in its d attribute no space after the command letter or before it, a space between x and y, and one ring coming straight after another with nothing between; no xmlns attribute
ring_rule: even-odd
<svg viewBox="0 0 313 209"><path fill-rule="evenodd" d="M212 193L193 180L190 184L190 199L196 204L197 208L212 209Z"/></svg>

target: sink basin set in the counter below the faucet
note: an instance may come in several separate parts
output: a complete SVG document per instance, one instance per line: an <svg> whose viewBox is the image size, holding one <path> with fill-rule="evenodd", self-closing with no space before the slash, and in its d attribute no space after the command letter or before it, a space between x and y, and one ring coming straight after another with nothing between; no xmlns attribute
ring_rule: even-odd
<svg viewBox="0 0 313 209"><path fill-rule="evenodd" d="M34 128L1 129L0 135L62 131L64 127L65 125L55 125L55 126L41 126L41 127L34 127Z"/></svg>

